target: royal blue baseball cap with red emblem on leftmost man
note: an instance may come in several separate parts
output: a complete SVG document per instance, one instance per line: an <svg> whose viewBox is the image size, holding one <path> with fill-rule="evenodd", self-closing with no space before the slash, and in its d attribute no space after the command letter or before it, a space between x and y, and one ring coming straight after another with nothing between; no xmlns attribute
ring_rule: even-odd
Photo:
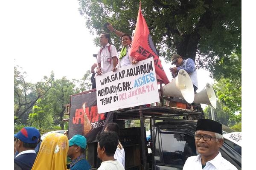
<svg viewBox="0 0 256 170"><path fill-rule="evenodd" d="M36 138L32 140L34 136ZM23 127L18 133L14 134L14 137L25 143L37 143L39 136L39 130L35 127Z"/></svg>

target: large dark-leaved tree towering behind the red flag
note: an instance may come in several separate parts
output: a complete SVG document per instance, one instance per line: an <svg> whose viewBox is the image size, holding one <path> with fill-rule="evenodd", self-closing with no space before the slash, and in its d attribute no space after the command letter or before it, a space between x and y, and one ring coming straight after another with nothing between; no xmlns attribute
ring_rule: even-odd
<svg viewBox="0 0 256 170"><path fill-rule="evenodd" d="M107 31L106 21L128 34L135 28L139 0L79 0L79 5L91 33ZM142 12L160 56L167 60L177 53L212 70L215 59L241 47L241 0L143 0Z"/></svg>

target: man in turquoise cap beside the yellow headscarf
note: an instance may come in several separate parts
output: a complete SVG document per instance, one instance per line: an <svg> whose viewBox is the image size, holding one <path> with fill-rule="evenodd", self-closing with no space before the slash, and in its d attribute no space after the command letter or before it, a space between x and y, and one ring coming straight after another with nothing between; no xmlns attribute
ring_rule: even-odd
<svg viewBox="0 0 256 170"><path fill-rule="evenodd" d="M72 159L70 170L90 170L91 166L85 159L84 150L86 148L86 138L75 135L69 140L67 156Z"/></svg>

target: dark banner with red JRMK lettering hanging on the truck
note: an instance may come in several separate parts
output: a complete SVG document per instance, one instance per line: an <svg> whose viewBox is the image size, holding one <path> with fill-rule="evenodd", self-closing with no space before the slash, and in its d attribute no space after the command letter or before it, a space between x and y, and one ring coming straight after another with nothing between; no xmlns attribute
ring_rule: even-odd
<svg viewBox="0 0 256 170"><path fill-rule="evenodd" d="M110 122L113 122L113 112L98 113L96 91L71 96L69 138L79 134L89 143L96 142L97 133Z"/></svg>

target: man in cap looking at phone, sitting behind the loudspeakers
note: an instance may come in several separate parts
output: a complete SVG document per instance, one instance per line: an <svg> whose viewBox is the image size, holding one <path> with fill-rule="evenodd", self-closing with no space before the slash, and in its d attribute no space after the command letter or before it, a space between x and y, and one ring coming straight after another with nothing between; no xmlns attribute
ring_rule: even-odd
<svg viewBox="0 0 256 170"><path fill-rule="evenodd" d="M177 65L174 68L169 68L172 74L176 77L180 69L184 69L192 80L194 91L198 89L198 80L195 70L195 62L193 59L183 59L179 54L174 54L172 56L172 64Z"/></svg>

